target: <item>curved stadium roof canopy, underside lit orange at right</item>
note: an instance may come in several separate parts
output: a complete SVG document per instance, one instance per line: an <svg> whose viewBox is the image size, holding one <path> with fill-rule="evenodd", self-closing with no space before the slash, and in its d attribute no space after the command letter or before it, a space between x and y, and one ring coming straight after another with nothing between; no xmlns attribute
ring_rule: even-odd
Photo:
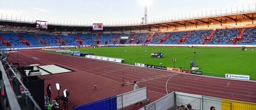
<svg viewBox="0 0 256 110"><path fill-rule="evenodd" d="M253 22L256 19L256 10L247 12L235 12L229 14L215 14L212 16L193 16L187 18L172 19L170 21L152 22L148 24L129 25L104 25L103 31L132 31L132 30L161 30L180 27L198 27L209 25L236 24L241 22ZM9 19L0 20L0 25L16 27L35 27L35 22L13 21ZM49 31L95 31L92 25L62 25L48 23ZM97 30L99 31L99 30Z"/></svg>

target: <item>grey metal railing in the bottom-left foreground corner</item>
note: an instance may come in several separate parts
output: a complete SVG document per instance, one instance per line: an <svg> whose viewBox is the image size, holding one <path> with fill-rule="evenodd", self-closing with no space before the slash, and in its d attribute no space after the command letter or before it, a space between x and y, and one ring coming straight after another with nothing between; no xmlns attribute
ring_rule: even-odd
<svg viewBox="0 0 256 110"><path fill-rule="evenodd" d="M4 64L4 66L2 63ZM8 62L2 61L2 63L0 63L0 69L3 79L0 80L0 86L3 87L1 88L1 90L5 91L6 93L6 106L1 106L1 109L41 110L41 108L30 95L28 89L20 81L20 76L12 70ZM8 73L8 75L6 74L6 72ZM24 91L21 91L21 88Z"/></svg>

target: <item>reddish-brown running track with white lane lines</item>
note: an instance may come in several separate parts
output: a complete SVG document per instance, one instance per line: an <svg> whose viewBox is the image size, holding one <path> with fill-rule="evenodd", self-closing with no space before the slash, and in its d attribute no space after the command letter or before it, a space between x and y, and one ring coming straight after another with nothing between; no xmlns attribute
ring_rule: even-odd
<svg viewBox="0 0 256 110"><path fill-rule="evenodd" d="M23 66L56 64L75 70L43 76L45 94L48 83L52 85L59 83L63 90L69 89L69 99L73 102L71 106L132 91L134 80L138 81L140 88L148 88L150 102L165 96L167 92L179 91L256 103L256 82L251 81L177 74L169 71L41 52L39 50L20 50L18 54L9 53L8 61L9 63L20 62ZM125 73L124 79L127 84L125 86L120 85L122 83L122 72ZM99 90L93 91L93 85L98 85ZM56 88L52 86L52 97L58 94L55 90ZM128 109L139 109L146 104L135 104L133 107L128 107Z"/></svg>

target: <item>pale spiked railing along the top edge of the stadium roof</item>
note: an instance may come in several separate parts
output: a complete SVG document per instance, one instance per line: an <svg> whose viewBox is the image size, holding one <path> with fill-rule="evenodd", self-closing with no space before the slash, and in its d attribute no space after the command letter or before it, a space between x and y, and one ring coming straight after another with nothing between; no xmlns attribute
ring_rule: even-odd
<svg viewBox="0 0 256 110"><path fill-rule="evenodd" d="M243 13L250 13L250 12L255 12L255 11L256 11L256 7L255 8L253 7L253 9L249 8L249 10L243 9L240 11L238 11L238 10L232 11L232 9L231 9L230 12L226 11L224 13L223 12L217 13L215 10L215 14L212 14L212 11L210 12L210 14L209 14L209 12L207 14L207 11L205 14L203 14L203 11L201 11L201 16L198 13L197 13L197 16L195 16L195 14L193 13L191 16L189 14L188 15L189 17L187 17L186 14L185 14L185 17L183 17L183 15L181 15L181 16L178 15L178 16L174 16L174 17L171 16L171 18L168 16L167 19L166 19L166 17L164 19L163 19L163 17L161 17L162 19L160 19L160 17L159 17L158 19L153 18L153 21L152 21L152 19L148 19L147 24L154 24L154 23L161 23L161 22L172 22L172 21L179 21L179 20L186 20L186 19L200 19L200 18L204 18L204 17L214 17L214 16L229 15L229 14L243 14ZM21 18L21 16L20 16L20 19L17 19L17 16L16 16L16 18L12 18L12 15L10 18L10 15L8 16L8 14L6 14L6 16L5 16L5 14L2 14L0 17L1 17L0 20L2 20L2 21L35 23L34 18L32 18L32 20L31 20L29 18L26 18L26 16L24 19ZM92 26L92 23L93 23L93 22L81 22L81 21L75 22L75 21L65 21L65 20L62 20L62 21L61 20L53 20L52 21L52 19L51 20L48 19L47 22L49 25L65 25L65 26ZM133 20L133 21L118 21L118 22L115 21L115 23L114 22L103 22L103 23L105 23L104 26L142 25L140 20L139 21L136 20L136 22L135 22L135 20ZM147 24L145 24L145 25L147 25Z"/></svg>

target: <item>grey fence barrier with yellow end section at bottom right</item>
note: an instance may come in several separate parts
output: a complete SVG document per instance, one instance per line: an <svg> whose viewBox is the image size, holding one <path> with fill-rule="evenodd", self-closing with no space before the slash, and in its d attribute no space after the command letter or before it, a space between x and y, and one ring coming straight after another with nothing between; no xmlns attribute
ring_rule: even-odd
<svg viewBox="0 0 256 110"><path fill-rule="evenodd" d="M191 104L194 110L209 110L214 106L216 110L253 110L256 103L220 99L210 96L201 96L190 93L172 92L140 110L166 110L170 107ZM170 109L172 110L172 109Z"/></svg>

